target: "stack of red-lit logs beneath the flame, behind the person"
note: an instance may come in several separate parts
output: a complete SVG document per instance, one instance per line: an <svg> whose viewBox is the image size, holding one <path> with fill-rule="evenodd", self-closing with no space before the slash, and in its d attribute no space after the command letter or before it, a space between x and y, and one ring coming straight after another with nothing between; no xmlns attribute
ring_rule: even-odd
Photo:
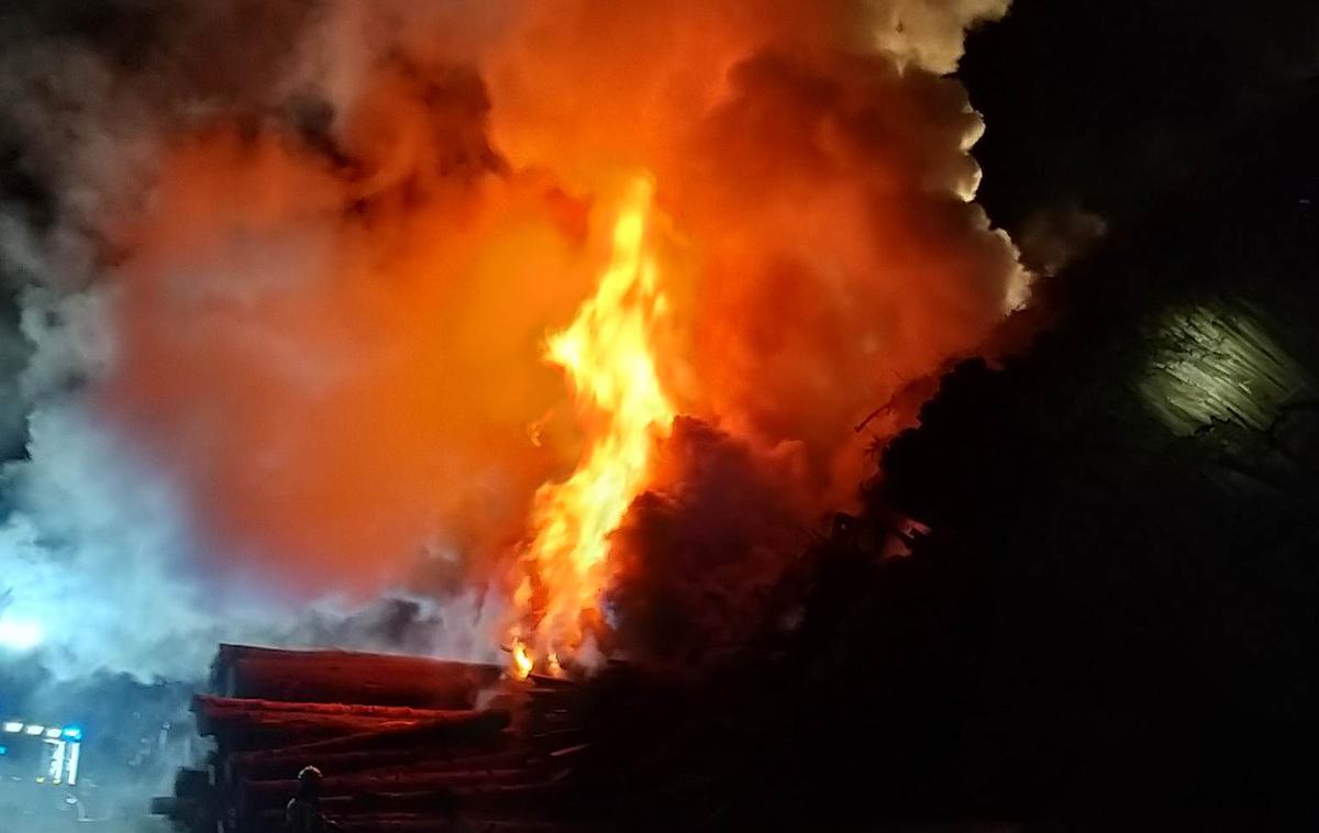
<svg viewBox="0 0 1319 833"><path fill-rule="evenodd" d="M214 739L153 812L190 833L272 833L309 764L347 833L587 829L570 778L576 687L496 666L222 646L194 699Z"/></svg>

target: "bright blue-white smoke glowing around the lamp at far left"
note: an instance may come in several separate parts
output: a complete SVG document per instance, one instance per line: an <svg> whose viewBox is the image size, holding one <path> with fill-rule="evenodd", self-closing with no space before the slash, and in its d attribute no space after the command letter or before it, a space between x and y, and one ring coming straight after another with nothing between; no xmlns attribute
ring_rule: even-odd
<svg viewBox="0 0 1319 833"><path fill-rule="evenodd" d="M34 413L30 431L32 460L5 471L20 501L0 527L5 614L42 629L62 675L195 676L220 629L185 579L191 544L168 485L77 405Z"/></svg>

